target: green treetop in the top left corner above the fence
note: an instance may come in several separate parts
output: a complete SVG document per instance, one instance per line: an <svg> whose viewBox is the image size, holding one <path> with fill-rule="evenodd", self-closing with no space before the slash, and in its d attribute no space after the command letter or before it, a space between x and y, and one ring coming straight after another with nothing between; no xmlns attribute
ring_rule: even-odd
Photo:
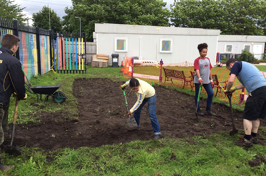
<svg viewBox="0 0 266 176"><path fill-rule="evenodd" d="M5 19L17 19L20 22L27 21L29 18L22 11L24 8L20 8L19 5L12 3L15 1L1 0L0 1L0 16Z"/></svg>

